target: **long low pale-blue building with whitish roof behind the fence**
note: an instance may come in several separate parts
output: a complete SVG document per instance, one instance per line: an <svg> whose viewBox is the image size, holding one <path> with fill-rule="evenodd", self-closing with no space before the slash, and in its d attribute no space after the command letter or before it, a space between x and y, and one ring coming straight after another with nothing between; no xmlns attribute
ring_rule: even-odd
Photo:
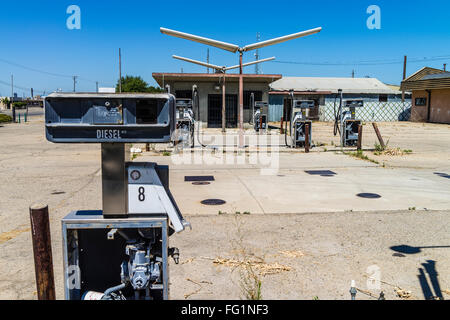
<svg viewBox="0 0 450 320"><path fill-rule="evenodd" d="M379 117L376 108L386 106L389 102L401 103L402 93L392 89L375 78L307 78L284 77L270 84L269 105L270 121L279 121L283 116L284 106L289 103L289 92L294 90L296 99L314 100L316 107L310 117L316 120L330 121L338 90L342 89L344 99L359 99L370 106L362 120L396 121L404 112L403 106L389 112L381 112ZM406 95L410 98L410 95ZM389 113L389 115L388 115ZM284 115L286 118L286 115ZM402 119L403 120L403 119Z"/></svg>

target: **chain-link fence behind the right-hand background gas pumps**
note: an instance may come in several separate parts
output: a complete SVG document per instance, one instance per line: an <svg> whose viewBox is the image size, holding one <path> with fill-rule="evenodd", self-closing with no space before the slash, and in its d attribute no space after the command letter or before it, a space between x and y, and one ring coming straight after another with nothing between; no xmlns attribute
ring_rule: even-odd
<svg viewBox="0 0 450 320"><path fill-rule="evenodd" d="M411 106L411 101L364 102L364 107L356 108L356 119L375 122L409 121ZM333 101L327 101L324 106L320 106L320 121L334 121L338 108L339 102L335 105Z"/></svg>

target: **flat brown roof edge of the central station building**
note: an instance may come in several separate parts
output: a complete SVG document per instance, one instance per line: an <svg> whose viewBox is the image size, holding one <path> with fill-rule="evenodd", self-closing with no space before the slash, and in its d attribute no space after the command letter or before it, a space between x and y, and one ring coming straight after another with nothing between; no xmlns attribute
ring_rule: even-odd
<svg viewBox="0 0 450 320"><path fill-rule="evenodd" d="M281 74L244 74L244 81L271 83L281 79ZM153 73L153 78L160 87L164 87L166 81L186 82L219 82L225 77L227 82L238 82L239 74L236 73Z"/></svg>

